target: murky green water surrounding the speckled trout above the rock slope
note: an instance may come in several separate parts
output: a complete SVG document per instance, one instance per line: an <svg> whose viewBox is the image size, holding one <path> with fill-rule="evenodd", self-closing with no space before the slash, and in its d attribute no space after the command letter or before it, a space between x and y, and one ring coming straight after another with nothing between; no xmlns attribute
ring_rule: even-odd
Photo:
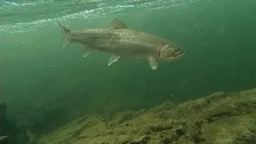
<svg viewBox="0 0 256 144"><path fill-rule="evenodd" d="M0 2L0 100L30 130L256 86L254 0L6 2ZM62 54L57 20L79 30L105 28L114 18L184 45L185 55L151 70L132 58L107 66L110 54L101 52L83 58L75 43Z"/></svg>

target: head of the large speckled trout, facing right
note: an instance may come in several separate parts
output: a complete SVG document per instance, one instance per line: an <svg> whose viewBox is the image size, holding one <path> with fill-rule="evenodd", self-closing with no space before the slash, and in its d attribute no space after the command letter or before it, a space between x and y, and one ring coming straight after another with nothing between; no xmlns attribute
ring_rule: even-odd
<svg viewBox="0 0 256 144"><path fill-rule="evenodd" d="M181 46L174 44L166 44L158 51L158 56L166 62L177 61L182 58L182 55L185 53L185 50Z"/></svg>

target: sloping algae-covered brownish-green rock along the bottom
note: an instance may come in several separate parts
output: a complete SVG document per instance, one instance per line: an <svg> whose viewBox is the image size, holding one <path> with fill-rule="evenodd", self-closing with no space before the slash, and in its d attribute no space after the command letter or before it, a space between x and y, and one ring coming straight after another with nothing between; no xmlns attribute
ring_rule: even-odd
<svg viewBox="0 0 256 144"><path fill-rule="evenodd" d="M175 106L87 115L42 135L47 144L255 144L256 89L216 92Z"/></svg>

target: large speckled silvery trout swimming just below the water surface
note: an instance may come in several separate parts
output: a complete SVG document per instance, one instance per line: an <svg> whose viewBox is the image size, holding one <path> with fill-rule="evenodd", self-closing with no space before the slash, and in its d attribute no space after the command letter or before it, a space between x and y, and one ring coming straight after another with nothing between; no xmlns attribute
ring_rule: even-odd
<svg viewBox="0 0 256 144"><path fill-rule="evenodd" d="M84 57L92 51L112 54L108 65L117 62L120 57L146 59L152 70L158 68L159 62L172 62L185 53L181 46L153 34L128 29L126 24L114 18L106 29L69 30L58 22L64 35L64 47L70 42L81 43Z"/></svg>

